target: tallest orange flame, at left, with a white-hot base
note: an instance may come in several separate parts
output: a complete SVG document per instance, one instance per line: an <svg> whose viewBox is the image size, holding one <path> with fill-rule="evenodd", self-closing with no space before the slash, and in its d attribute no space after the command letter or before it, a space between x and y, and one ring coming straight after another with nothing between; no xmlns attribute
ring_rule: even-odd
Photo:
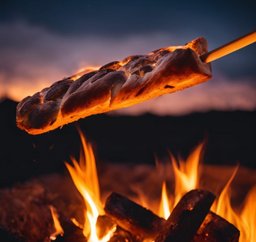
<svg viewBox="0 0 256 242"><path fill-rule="evenodd" d="M88 238L88 242L106 242L113 236L113 233L115 233L116 226L113 226L102 239L98 239L96 222L98 216L104 214L104 209L100 201L100 186L98 183L96 163L92 146L90 143L86 143L86 139L81 130L79 130L79 134L82 139L84 153L82 151L80 152L79 163L71 157L73 167L68 163L65 163L65 165L69 170L75 187L83 196L86 204L86 219L83 229L84 236Z"/></svg>

